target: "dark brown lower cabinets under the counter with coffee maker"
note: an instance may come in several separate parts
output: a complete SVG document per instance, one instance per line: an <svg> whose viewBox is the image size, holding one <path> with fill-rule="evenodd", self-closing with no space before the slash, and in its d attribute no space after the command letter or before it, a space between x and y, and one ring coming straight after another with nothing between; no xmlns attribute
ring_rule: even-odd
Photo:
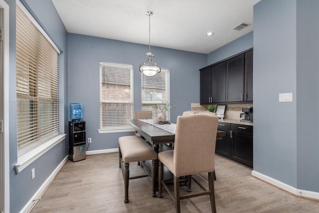
<svg viewBox="0 0 319 213"><path fill-rule="evenodd" d="M218 130L226 132L216 141L216 153L253 168L253 126L218 123Z"/></svg>

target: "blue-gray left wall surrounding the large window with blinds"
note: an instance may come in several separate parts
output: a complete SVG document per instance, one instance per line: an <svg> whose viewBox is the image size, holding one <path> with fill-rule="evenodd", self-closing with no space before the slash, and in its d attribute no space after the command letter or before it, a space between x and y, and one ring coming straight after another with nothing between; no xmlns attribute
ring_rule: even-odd
<svg viewBox="0 0 319 213"><path fill-rule="evenodd" d="M61 163L67 154L67 143L59 143L45 155L40 157L18 175L15 174L14 165L17 163L16 144L16 72L15 72L15 0L5 0L9 5L9 169L10 169L10 212L19 212L40 188L53 170ZM61 50L59 57L60 81L60 133L65 133L64 117L67 112L66 68L67 68L67 32L58 16L51 0L22 0L30 13L38 20L52 40ZM31 180L31 169L35 168L35 178Z"/></svg>

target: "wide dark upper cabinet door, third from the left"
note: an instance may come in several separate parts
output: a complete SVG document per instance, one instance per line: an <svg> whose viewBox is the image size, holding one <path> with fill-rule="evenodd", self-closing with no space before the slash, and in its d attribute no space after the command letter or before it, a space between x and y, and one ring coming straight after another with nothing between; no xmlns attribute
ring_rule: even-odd
<svg viewBox="0 0 319 213"><path fill-rule="evenodd" d="M226 102L244 100L244 54L226 61Z"/></svg>

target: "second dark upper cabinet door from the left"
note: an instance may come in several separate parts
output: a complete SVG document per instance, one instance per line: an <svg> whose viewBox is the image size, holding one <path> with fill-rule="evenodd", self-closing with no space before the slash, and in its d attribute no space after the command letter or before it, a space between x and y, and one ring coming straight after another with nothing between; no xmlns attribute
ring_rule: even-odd
<svg viewBox="0 0 319 213"><path fill-rule="evenodd" d="M225 102L226 94L226 62L212 67L212 102Z"/></svg>

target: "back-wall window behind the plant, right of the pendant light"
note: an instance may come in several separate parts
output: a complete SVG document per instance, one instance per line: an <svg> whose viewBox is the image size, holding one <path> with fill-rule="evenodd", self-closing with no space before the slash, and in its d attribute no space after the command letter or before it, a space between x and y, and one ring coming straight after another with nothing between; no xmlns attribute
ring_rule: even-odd
<svg viewBox="0 0 319 213"><path fill-rule="evenodd" d="M166 103L169 106L169 72L162 68L160 73L154 76L142 75L142 110L153 111L157 115L158 110L152 108L155 104ZM169 120L169 111L166 111Z"/></svg>

